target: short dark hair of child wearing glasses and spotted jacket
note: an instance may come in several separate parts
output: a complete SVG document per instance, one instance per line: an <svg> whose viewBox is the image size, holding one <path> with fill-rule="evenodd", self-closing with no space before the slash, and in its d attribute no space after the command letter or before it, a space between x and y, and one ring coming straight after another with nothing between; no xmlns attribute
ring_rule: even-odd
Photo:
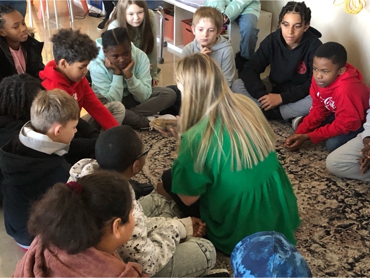
<svg viewBox="0 0 370 278"><path fill-rule="evenodd" d="M100 168L123 172L143 151L143 142L129 125L119 125L104 131L95 144L95 158Z"/></svg>

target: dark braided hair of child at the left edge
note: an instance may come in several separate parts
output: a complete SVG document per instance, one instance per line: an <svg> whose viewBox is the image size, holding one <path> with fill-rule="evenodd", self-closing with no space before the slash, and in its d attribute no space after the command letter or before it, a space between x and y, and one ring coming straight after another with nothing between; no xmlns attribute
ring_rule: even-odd
<svg viewBox="0 0 370 278"><path fill-rule="evenodd" d="M13 75L0 83L0 115L31 119L32 102L44 90L40 81L28 74Z"/></svg>

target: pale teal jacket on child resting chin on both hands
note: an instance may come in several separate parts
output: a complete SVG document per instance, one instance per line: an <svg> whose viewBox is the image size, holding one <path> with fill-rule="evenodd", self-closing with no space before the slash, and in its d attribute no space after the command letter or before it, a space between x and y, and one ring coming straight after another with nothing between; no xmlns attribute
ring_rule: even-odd
<svg viewBox="0 0 370 278"><path fill-rule="evenodd" d="M131 58L135 65L132 77L125 79L122 75L114 75L112 69L105 66L102 39L96 40L100 47L98 57L90 62L92 89L106 97L109 101L122 101L122 98L132 94L140 103L151 95L150 64L147 54L131 42Z"/></svg>

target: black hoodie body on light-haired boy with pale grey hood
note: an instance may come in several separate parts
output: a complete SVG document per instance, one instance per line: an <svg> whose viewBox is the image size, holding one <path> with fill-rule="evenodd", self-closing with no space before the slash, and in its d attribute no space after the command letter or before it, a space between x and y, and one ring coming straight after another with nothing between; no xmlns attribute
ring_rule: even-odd
<svg viewBox="0 0 370 278"><path fill-rule="evenodd" d="M38 152L23 145L19 138L0 149L5 230L22 245L33 237L27 230L31 205L58 182L67 182L71 165L64 157Z"/></svg>

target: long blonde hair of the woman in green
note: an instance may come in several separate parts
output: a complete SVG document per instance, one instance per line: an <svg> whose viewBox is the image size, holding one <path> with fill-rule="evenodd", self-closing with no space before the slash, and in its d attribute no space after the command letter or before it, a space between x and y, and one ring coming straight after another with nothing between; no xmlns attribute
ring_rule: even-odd
<svg viewBox="0 0 370 278"><path fill-rule="evenodd" d="M213 158L218 151L220 162L223 136L226 130L231 141L231 171L252 168L275 150L274 133L259 107L248 97L231 92L216 60L193 54L179 61L176 79L183 84L179 128L184 133L202 119L208 119L204 130L194 170L202 172L208 152ZM221 119L221 129L215 126ZM218 146L211 146L217 136Z"/></svg>

